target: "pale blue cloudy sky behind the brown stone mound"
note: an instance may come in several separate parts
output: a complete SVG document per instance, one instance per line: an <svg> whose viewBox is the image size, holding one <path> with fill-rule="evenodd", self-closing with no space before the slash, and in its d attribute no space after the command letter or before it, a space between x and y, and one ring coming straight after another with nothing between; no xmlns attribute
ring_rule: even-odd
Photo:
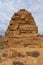
<svg viewBox="0 0 43 65"><path fill-rule="evenodd" d="M0 0L0 35L4 35L11 17L20 9L32 13L39 34L43 34L43 0Z"/></svg>

